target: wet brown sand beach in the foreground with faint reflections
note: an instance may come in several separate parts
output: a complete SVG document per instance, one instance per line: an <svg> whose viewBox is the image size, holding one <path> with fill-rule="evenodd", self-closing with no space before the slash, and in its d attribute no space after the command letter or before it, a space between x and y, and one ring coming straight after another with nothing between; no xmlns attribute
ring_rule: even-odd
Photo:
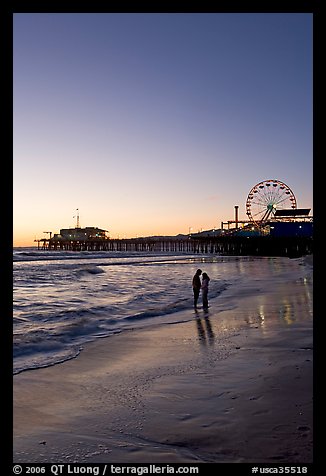
<svg viewBox="0 0 326 476"><path fill-rule="evenodd" d="M311 307L243 292L15 375L14 462L312 463Z"/></svg>

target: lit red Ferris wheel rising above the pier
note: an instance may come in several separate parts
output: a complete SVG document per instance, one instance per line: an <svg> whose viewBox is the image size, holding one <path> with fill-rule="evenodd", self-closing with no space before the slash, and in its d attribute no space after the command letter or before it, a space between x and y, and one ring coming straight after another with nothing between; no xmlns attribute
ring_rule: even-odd
<svg viewBox="0 0 326 476"><path fill-rule="evenodd" d="M297 208L297 201L290 187L280 180L264 180L258 183L247 197L247 216L257 226L266 224L273 218L276 210L289 208Z"/></svg>

